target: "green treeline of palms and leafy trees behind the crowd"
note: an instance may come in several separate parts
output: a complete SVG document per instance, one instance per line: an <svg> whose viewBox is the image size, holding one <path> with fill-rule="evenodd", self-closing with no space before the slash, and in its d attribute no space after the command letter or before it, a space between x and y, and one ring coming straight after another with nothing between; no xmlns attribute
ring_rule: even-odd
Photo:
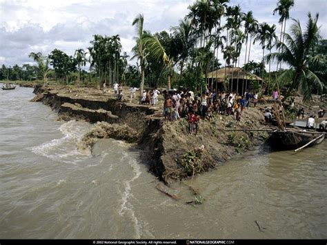
<svg viewBox="0 0 327 245"><path fill-rule="evenodd" d="M71 56L57 49L47 56L31 53L37 66L24 65L17 76L43 81L50 77L60 83L96 82L99 86L118 81L127 86L139 85L141 90L143 86L186 86L201 90L207 84L208 72L221 67L241 67L262 77L270 89L286 86L291 90L300 86L310 98L311 90L322 92L326 87L326 40L321 41L319 35L318 14L315 17L308 14L306 30L293 20L292 32L290 35L286 32L293 6L293 0L279 0L272 10L279 15L276 19L281 28L279 37L276 25L259 23L252 11L243 12L239 5L230 6L229 0L197 0L188 7L188 14L178 26L154 35L143 26L144 17L139 14L132 22L136 30L132 57L121 52L119 35L94 35L89 47L79 48ZM262 49L259 62L252 60L255 43ZM131 59L135 66L128 64ZM277 70L271 70L272 62L277 63ZM281 70L282 63L289 69ZM6 74L10 79L6 68L1 70L1 79ZM226 75L224 86L235 89L230 87Z"/></svg>

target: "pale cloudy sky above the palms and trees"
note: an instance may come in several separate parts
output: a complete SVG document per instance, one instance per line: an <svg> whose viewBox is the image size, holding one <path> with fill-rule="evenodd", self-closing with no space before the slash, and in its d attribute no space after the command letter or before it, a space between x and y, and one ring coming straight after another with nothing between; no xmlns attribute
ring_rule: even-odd
<svg viewBox="0 0 327 245"><path fill-rule="evenodd" d="M131 50L135 46L133 37L137 35L132 21L139 13L144 16L145 30L152 33L169 31L172 26L178 26L179 21L188 14L188 6L193 2L194 0L0 0L0 66L32 64L32 59L28 57L30 52L48 55L54 48L74 55L75 50L90 46L92 35L96 34L119 34L123 52L132 56ZM279 37L279 16L273 15L277 0L230 0L230 5L237 4L243 12L252 10L259 22L265 21L270 25L275 23ZM302 28L305 28L309 11L312 14L319 12L318 25L321 36L326 39L327 1L295 0L290 17L299 19ZM289 19L286 32L291 23ZM260 46L252 46L250 59L261 61Z"/></svg>

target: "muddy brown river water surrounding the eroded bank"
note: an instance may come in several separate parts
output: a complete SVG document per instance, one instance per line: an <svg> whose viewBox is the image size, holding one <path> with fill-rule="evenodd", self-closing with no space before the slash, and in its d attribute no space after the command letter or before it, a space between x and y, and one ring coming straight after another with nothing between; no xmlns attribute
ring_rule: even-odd
<svg viewBox="0 0 327 245"><path fill-rule="evenodd" d="M1 238L327 238L326 141L239 155L173 184L176 201L155 188L141 152L105 139L80 153L91 125L57 121L32 97L0 90ZM185 204L186 184L204 204Z"/></svg>

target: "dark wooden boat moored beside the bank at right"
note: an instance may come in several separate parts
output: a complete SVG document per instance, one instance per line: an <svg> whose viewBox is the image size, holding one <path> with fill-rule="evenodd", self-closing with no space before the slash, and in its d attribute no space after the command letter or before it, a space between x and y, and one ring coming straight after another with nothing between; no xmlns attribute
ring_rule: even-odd
<svg viewBox="0 0 327 245"><path fill-rule="evenodd" d="M293 150L301 146L314 146L324 141L326 133L301 130L275 130L270 135L270 143L278 150Z"/></svg>

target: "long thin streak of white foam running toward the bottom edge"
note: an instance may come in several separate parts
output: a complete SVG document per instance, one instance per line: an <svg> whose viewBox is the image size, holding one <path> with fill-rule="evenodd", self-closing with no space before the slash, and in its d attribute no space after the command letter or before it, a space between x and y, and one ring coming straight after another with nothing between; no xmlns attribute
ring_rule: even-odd
<svg viewBox="0 0 327 245"><path fill-rule="evenodd" d="M123 158L126 158L128 155L127 153L123 153ZM126 212L130 213L130 216L132 218L133 221L133 226L135 228L135 233L137 235L137 238L140 238L140 225L139 225L139 221L137 219L137 217L135 216L135 212L132 208L132 205L130 205L128 203L128 199L130 199L130 197L132 197L132 193L131 191L131 187L130 184L132 182L135 181L135 179L137 179L140 175L141 175L141 170L139 168L139 164L137 164L137 161L135 159L130 159L128 161L128 164L132 167L132 171L134 173L134 176L132 177L132 179L126 181L124 183L125 186L125 190L123 192L123 197L121 198L121 209L119 210L119 215L123 216Z"/></svg>

